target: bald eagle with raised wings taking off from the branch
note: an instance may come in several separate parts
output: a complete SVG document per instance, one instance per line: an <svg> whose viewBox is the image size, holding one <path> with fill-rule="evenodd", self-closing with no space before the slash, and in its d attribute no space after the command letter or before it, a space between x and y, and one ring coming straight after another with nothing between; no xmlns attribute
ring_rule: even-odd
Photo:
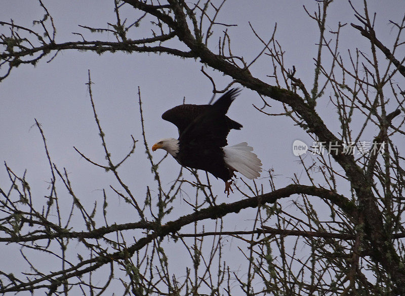
<svg viewBox="0 0 405 296"><path fill-rule="evenodd" d="M229 131L242 127L225 115L239 92L231 89L212 105L183 104L163 113L161 118L179 129L179 138L161 139L152 146L152 151L164 149L182 166L204 170L222 179L228 196L229 190L233 192L230 185L234 172L248 179L259 177L262 163L248 143L226 146Z"/></svg>

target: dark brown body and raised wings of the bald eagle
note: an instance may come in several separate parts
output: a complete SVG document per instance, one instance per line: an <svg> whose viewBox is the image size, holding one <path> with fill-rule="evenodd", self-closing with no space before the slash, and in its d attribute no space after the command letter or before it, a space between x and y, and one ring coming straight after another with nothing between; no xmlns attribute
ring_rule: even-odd
<svg viewBox="0 0 405 296"><path fill-rule="evenodd" d="M161 117L179 129L175 158L182 166L207 171L225 182L232 178L222 147L228 144L229 131L242 127L225 115L238 93L238 89L232 89L212 105L184 104L163 113Z"/></svg>

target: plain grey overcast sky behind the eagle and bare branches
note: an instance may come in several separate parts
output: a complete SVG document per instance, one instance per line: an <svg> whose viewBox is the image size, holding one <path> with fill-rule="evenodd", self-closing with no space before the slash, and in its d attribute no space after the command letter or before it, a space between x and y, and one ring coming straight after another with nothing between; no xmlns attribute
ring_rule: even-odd
<svg viewBox="0 0 405 296"><path fill-rule="evenodd" d="M0 20L11 18L17 24L32 25L33 19L43 16L42 9L36 1L2 2ZM72 32L86 33L87 39L102 39L113 35L94 34L77 25L106 27L107 22L114 23L113 1L47 1L49 12L55 20L59 43L77 40ZM354 5L362 1L355 0ZM377 12L376 28L382 38L392 39L391 25L388 20L400 21L405 11L401 1L370 1L369 9ZM260 41L249 27L252 26L263 39L268 39L277 23L276 37L286 50L286 64L296 66L297 76L311 87L313 77L313 60L316 54L318 32L316 23L305 13L303 5L310 12L316 10L315 1L229 1L222 9L221 22L237 24L229 27L234 54L250 61L262 49ZM345 0L332 4L329 11L328 28L335 30L337 22L356 22L353 11ZM135 17L131 9L128 17ZM148 36L150 31L141 28L139 36ZM0 27L4 30L4 27ZM367 40L347 25L341 37L342 51L354 50L367 46ZM222 31L222 28L220 29ZM133 36L137 38L139 36ZM216 49L212 40L211 49ZM100 189L108 189L114 184L112 176L100 168L92 166L73 149L73 146L84 152L95 161L103 163L104 156L86 86L88 69L91 70L94 82L93 98L96 103L99 119L106 134L107 144L115 161L119 161L131 148L131 138L140 140L136 152L121 168L125 181L136 189L140 198L144 198L146 185L153 181L150 167L144 153L139 120L137 88L140 86L143 100L143 111L146 124L146 135L149 145L164 137L177 138L176 127L160 118L161 113L179 105L185 97L188 103L205 104L212 96L211 82L199 70L201 64L193 59L182 60L177 57L155 54L105 53L101 56L93 52L64 51L50 63L51 56L31 65L21 65L13 69L9 77L1 82L0 92L0 159L17 174L27 169L27 180L35 193L34 198L41 199L48 192L50 173L49 164L41 136L32 127L36 118L44 129L48 148L53 162L59 167L66 167L73 188L80 193L84 204L91 206L95 200L101 201ZM263 56L251 69L254 76L272 83L266 75L271 75L271 63ZM214 72L217 87L223 88L230 81L218 72ZM328 95L329 96L329 95ZM320 108L328 106L328 96L319 104ZM302 168L292 153L292 143L296 139L311 144L306 133L287 117L268 117L258 113L252 106L261 106L260 97L250 90L243 90L229 110L229 117L244 125L241 131L232 131L229 144L248 142L261 158L264 170L274 168L278 175L276 183L284 186L290 182L294 173L301 174ZM280 105L273 102L274 113L279 112ZM329 123L336 124L334 108L320 110L321 114L330 114ZM369 140L369 139L367 139ZM162 150L153 156L159 159L164 155ZM173 172L178 172L178 164L168 157L161 164L161 174L166 184L173 181ZM167 172L165 174L165 172ZM263 174L264 177L266 173ZM223 182L211 178L214 190L222 194ZM259 180L268 189L266 179ZM7 188L9 181L6 171L0 169L0 185ZM61 184L59 186L62 186ZM110 200L118 203L112 193ZM190 193L193 194L192 192ZM241 198L238 194L229 197L232 200ZM226 201L222 196L220 201ZM101 204L101 203L100 203ZM178 213L185 204L175 201ZM130 222L126 216L128 209L124 204L113 207L110 217L117 223ZM127 213L131 215L131 213ZM185 213L183 213L185 214ZM243 215L243 214L241 214ZM233 228L232 225L229 228ZM7 252L6 252L7 253ZM3 255L5 253L2 253ZM0 255L0 262L6 258Z"/></svg>

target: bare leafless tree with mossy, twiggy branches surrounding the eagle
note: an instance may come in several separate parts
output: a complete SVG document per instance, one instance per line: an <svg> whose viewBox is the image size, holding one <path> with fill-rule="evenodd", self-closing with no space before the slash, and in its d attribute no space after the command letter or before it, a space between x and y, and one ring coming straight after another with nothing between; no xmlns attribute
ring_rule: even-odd
<svg viewBox="0 0 405 296"><path fill-rule="evenodd" d="M232 24L218 19L224 3L115 0L114 24L108 23L107 28L80 25L101 39L89 41L89 34L84 31L77 33L78 39L59 43L53 18L39 0L45 16L34 24L40 29L23 27L13 21L0 22L4 32L0 35L1 79L9 76L14 68L22 67L21 64L35 65L67 49L98 54L166 53L197 59L203 64L201 71L212 81L214 93L222 93L239 83L262 98L263 106L257 107L258 112L289 116L292 124L300 126L319 143L312 147L314 153L318 152L313 157L300 158L307 178L293 176L290 185L276 188L270 171L266 179L269 192L245 183L247 192L238 188L244 198L218 204L208 176L200 178L197 172L191 171L194 180L187 180L182 175L185 168L172 186L165 189L159 176L161 160L152 159L143 133L155 184L150 184L141 198L139 190L131 189L119 173L120 165L136 149L137 141L133 138L133 148L122 161L113 162L97 116L89 72L89 94L107 163L98 163L76 150L89 163L112 174L120 186L103 191L105 225L96 223L96 206L85 208L66 170L52 162L44 132L36 122L52 174L48 202L36 204L29 180L25 175L18 176L5 163L10 186L0 189L0 241L19 245L30 271L16 275L2 267L0 292L46 290L50 295L81 291L93 295L111 293L112 283L120 282L124 294L134 295L405 295L402 226L405 172L403 146L399 144L405 135L405 119L398 116L404 111L405 100L405 91L400 86L405 77L402 65L405 55L400 54L405 43L405 15L399 21L389 20L396 36L388 46L376 34L376 14L369 11L366 0L361 7L352 6L356 24L339 23L330 31L325 23L331 0L316 1L314 13L304 7L319 28L318 37L312 40L318 47L313 83L308 86L297 76L295 67L287 66L286 51L275 37L276 27L271 38L265 40L251 26L263 47L251 61L238 56L237 50L231 48L228 33ZM124 21L121 15L128 10L135 11L138 18ZM149 21L146 23L150 25L151 35L133 39L137 27L145 20ZM367 39L369 49L354 52L340 49L343 28ZM107 31L114 34L116 41L102 40ZM273 71L268 73L271 84L250 71L252 64L265 58L273 65ZM217 88L212 69L229 77L225 90ZM327 90L333 95L328 97ZM142 115L140 91L138 99ZM318 107L320 99L332 104ZM284 112L271 113L270 104L276 103ZM328 118L320 115L326 114L323 108L336 111L340 126L328 128ZM141 124L143 127L143 119ZM363 135L376 130L369 147L360 142ZM324 149L326 153L320 153ZM352 153L354 149L361 153ZM58 182L63 184L64 191L56 186ZM326 185L320 186L319 182ZM180 198L188 185L192 186L187 187L190 194L195 194L195 201L189 203L190 214L173 217L172 202ZM71 197L68 213L62 213L64 210L59 207L59 196L65 192ZM106 212L111 193L118 194L133 207L137 217L131 217L131 221L137 219L137 222L108 221ZM287 197L291 197L293 208L283 205L282 199ZM223 231L223 222L229 214L248 208L255 217L251 231ZM320 208L328 218L320 215ZM51 212L56 215L50 215ZM71 226L73 213L80 213L86 228ZM276 227L266 225L274 218ZM243 272L232 270L224 259L223 244L228 238L238 241L240 260L246 260ZM72 244L79 245L75 247L82 255L74 256ZM189 263L182 273L170 265L178 251L171 248L173 245L183 246L188 254ZM26 252L45 252L60 262L60 268L44 271L41 266L31 264Z"/></svg>

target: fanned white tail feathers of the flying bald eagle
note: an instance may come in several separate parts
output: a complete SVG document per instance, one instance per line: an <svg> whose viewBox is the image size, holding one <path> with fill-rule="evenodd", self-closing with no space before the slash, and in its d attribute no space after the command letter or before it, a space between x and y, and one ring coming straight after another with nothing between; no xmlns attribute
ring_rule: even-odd
<svg viewBox="0 0 405 296"><path fill-rule="evenodd" d="M226 146L223 149L225 163L232 170L239 172L248 179L260 177L262 162L255 153L251 152L253 148L248 146L248 143L243 142L233 146Z"/></svg>

